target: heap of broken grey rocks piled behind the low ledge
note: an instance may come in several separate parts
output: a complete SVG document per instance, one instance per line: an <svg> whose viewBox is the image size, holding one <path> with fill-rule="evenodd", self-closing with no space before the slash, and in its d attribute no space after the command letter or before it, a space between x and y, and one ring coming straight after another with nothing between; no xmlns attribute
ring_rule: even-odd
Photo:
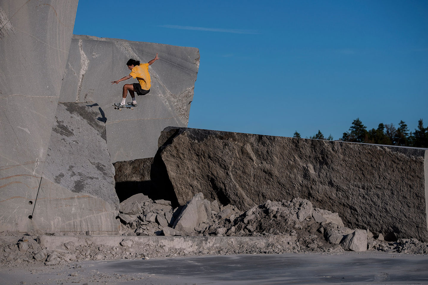
<svg viewBox="0 0 428 285"><path fill-rule="evenodd" d="M293 250L301 250L303 246L307 250L328 252L375 249L428 253L428 245L416 239L388 243L382 234L375 238L369 230L347 228L338 213L314 209L310 201L300 198L268 200L244 212L232 205L220 205L217 200L205 200L202 193L176 209L171 208L169 201L152 201L137 194L120 204L120 212L123 235L283 235L288 237L288 244L294 243Z"/></svg>

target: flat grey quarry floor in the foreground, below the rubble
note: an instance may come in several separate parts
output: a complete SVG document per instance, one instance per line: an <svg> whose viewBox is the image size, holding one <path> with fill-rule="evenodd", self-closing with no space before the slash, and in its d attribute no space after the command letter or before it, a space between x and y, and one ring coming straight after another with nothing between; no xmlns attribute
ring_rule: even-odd
<svg viewBox="0 0 428 285"><path fill-rule="evenodd" d="M0 267L0 284L428 284L428 256L379 253L208 255Z"/></svg>

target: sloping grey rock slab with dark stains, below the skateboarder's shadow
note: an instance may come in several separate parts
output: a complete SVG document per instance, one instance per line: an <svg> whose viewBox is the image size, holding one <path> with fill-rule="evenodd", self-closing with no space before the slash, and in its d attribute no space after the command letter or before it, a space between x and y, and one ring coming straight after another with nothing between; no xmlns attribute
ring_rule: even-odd
<svg viewBox="0 0 428 285"><path fill-rule="evenodd" d="M119 199L105 124L93 104L59 103L32 224L44 231L115 234Z"/></svg>

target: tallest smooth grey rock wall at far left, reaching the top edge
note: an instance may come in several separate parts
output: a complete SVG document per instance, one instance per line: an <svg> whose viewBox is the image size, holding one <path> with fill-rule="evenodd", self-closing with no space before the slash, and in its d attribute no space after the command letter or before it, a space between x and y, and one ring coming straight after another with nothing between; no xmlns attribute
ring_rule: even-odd
<svg viewBox="0 0 428 285"><path fill-rule="evenodd" d="M32 227L76 9L77 0L1 1L0 230Z"/></svg>

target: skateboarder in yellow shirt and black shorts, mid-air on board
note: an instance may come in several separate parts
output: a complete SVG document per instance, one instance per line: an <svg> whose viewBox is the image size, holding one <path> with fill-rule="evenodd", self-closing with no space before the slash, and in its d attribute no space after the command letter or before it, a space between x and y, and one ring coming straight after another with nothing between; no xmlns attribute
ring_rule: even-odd
<svg viewBox="0 0 428 285"><path fill-rule="evenodd" d="M113 106L116 106L118 108L124 108L125 105L125 99L126 96L131 94L132 102L128 102L128 105L137 107L137 101L135 100L135 94L137 95L146 95L150 92L150 74L149 74L149 65L151 65L153 62L157 61L159 59L158 53L156 53L156 56L154 59L147 63L142 63L135 59L129 59L126 65L128 65L128 69L131 70L131 73L129 73L128 76L125 76L119 80L112 81L111 84L119 84L119 82L130 79L131 77L137 78L139 83L133 83L133 84L125 84L123 85L123 92L122 92L122 101L120 103L114 103Z"/></svg>

